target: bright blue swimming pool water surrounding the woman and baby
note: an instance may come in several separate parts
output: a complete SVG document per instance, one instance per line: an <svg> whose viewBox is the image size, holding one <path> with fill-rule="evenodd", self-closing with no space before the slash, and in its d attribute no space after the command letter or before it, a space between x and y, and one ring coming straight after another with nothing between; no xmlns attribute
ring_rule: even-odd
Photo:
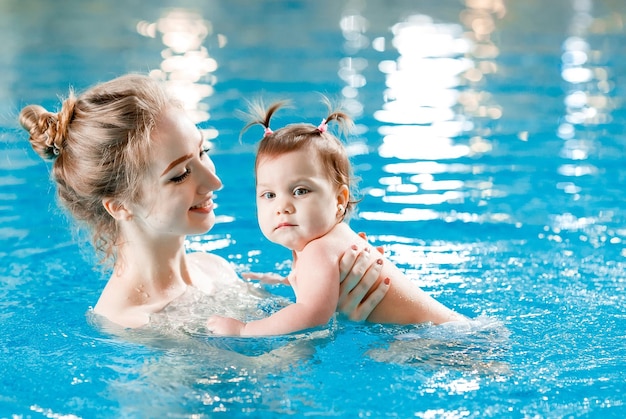
<svg viewBox="0 0 626 419"><path fill-rule="evenodd" d="M0 3L1 417L623 417L626 5L617 1ZM342 98L357 230L467 329L339 320L297 338L115 337L104 285L15 116L127 71L213 138L220 223L190 242L284 271L236 110ZM271 290L289 297L288 290Z"/></svg>

